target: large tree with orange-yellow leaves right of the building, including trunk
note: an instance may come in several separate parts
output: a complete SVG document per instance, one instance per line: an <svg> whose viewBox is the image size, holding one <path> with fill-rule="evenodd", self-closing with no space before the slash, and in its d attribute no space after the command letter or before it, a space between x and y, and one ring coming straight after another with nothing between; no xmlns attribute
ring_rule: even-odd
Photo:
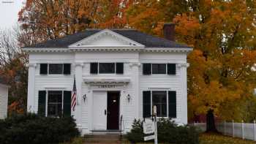
<svg viewBox="0 0 256 144"><path fill-rule="evenodd" d="M162 36L165 22L176 23L178 42L194 48L188 56L188 110L190 117L206 114L207 131L217 131L214 115L241 121L246 115L239 103L255 99L255 8L255 0L153 0L127 10L129 24L147 33Z"/></svg>

